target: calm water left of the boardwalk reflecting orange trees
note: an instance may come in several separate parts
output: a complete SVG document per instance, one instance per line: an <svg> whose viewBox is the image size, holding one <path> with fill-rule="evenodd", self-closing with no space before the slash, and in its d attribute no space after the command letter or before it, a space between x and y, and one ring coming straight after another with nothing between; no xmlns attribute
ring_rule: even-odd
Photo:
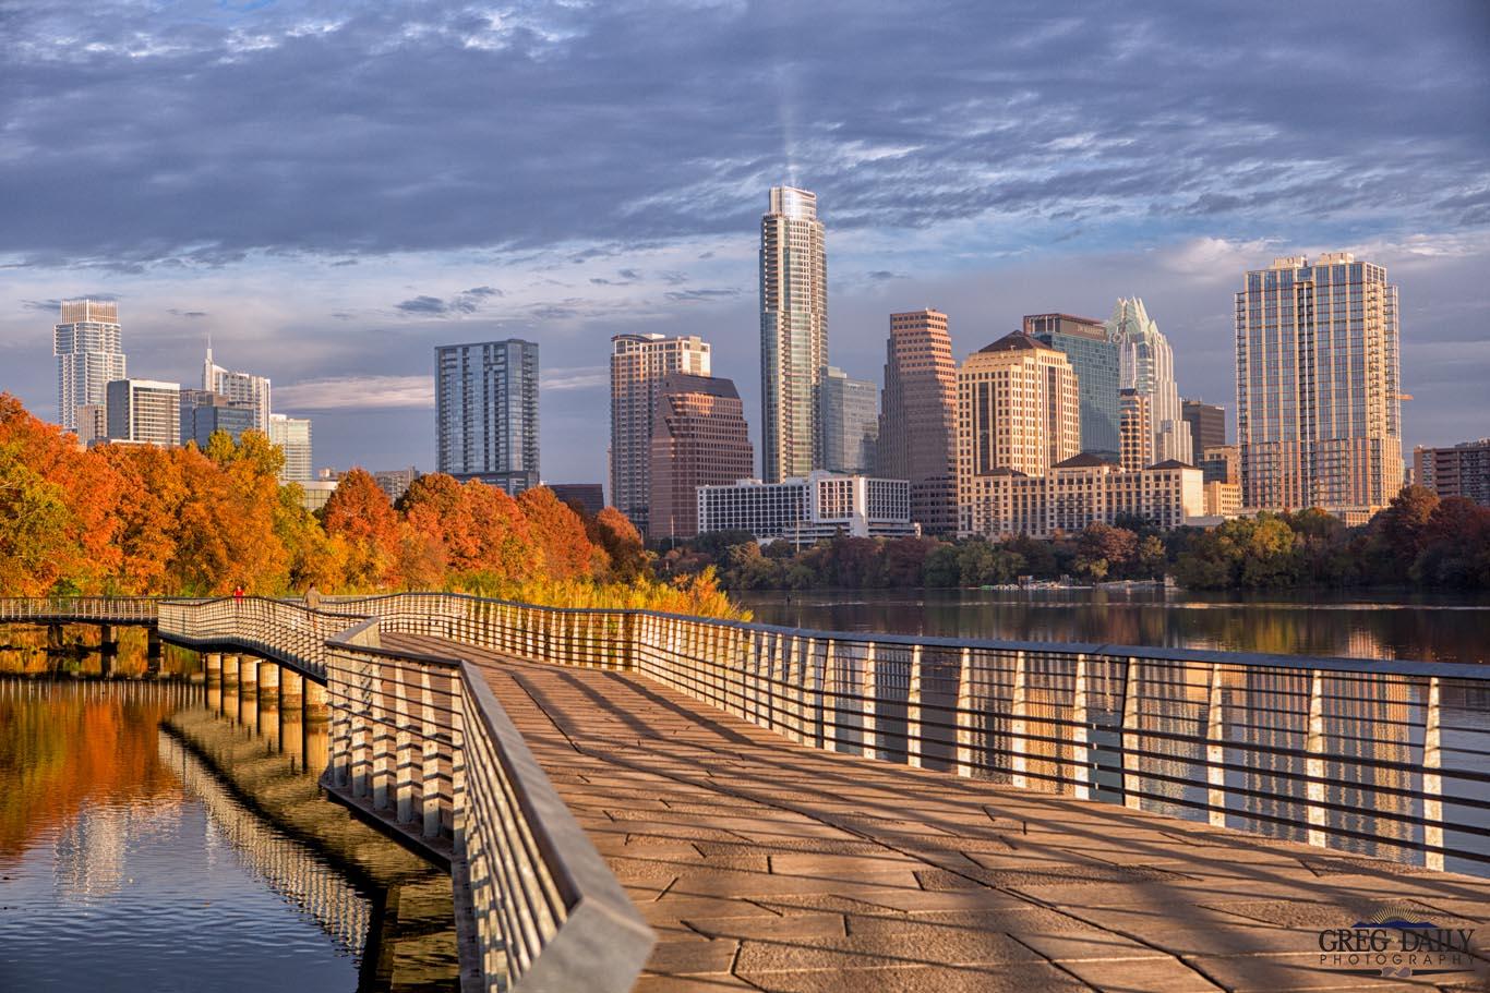
<svg viewBox="0 0 1490 993"><path fill-rule="evenodd" d="M159 728L180 683L0 676L0 990L356 990L375 895Z"/></svg>

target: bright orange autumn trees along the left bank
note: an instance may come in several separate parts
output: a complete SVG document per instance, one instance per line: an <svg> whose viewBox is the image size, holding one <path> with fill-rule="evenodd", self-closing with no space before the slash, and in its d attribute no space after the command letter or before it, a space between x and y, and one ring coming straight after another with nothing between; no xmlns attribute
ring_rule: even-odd
<svg viewBox="0 0 1490 993"><path fill-rule="evenodd" d="M238 444L98 445L0 395L0 596L451 590L529 603L739 616L708 569L670 581L614 508L595 517L547 487L516 500L441 473L398 505L353 469L326 506L280 485L283 453Z"/></svg>

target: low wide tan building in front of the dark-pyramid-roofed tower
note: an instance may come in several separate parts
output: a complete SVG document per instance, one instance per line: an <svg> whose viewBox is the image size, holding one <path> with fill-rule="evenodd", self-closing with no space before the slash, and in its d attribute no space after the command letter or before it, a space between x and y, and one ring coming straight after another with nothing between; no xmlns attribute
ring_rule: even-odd
<svg viewBox="0 0 1490 993"><path fill-rule="evenodd" d="M1089 524L1113 524L1120 517L1141 517L1171 529L1205 512L1201 470L1173 459L1138 472L1123 472L1089 454L1059 462L1042 476L998 467L968 479L960 494L964 536L1055 537L1079 534Z"/></svg>

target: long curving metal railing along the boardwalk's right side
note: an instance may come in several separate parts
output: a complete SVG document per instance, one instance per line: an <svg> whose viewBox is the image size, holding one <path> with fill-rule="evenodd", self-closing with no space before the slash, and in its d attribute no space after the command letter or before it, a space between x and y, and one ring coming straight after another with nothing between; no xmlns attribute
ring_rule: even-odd
<svg viewBox="0 0 1490 993"><path fill-rule="evenodd" d="M630 668L820 749L1490 872L1490 670L806 631L460 594L332 609Z"/></svg>

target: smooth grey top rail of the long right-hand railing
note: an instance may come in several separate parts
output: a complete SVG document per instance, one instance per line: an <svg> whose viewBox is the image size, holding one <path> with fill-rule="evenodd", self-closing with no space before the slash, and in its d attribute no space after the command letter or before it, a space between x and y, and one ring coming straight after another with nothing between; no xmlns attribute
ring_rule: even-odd
<svg viewBox="0 0 1490 993"><path fill-rule="evenodd" d="M1188 649L1171 646L1143 645L1098 645L1092 642L1018 642L1004 639L961 639L936 637L922 634L888 634L879 631L833 631L818 628L794 628L779 624L763 624L760 621L730 621L726 618L703 618L687 613L670 613L666 610L651 610L647 607L554 607L538 603L523 603L520 600L501 600L496 597L478 597L469 593L446 593L441 590L410 590L405 593L381 593L367 597L337 597L335 600L386 600L401 596L443 596L475 603L492 603L498 606L522 607L529 610L550 610L554 613L592 613L614 616L648 616L666 621L705 622L718 627L729 627L741 631L755 631L763 634L785 634L802 639L833 640L833 642L875 642L878 645L901 645L904 648L946 648L974 649L994 652L1047 652L1065 655L1109 655L1119 658L1137 658L1141 661L1159 662L1202 662L1237 667L1269 667L1295 668L1299 671L1323 670L1338 673L1363 673L1381 676L1438 676L1441 679L1465 679L1471 682L1490 682L1490 665L1477 662L1436 662L1416 660L1384 660L1384 658L1350 658L1322 655L1283 655L1274 652L1226 652L1219 649Z"/></svg>

